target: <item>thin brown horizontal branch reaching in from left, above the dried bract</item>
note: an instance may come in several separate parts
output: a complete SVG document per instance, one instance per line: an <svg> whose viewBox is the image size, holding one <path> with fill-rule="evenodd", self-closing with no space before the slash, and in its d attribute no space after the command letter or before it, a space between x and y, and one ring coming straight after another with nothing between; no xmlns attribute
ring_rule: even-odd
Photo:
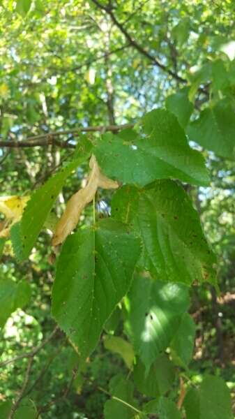
<svg viewBox="0 0 235 419"><path fill-rule="evenodd" d="M100 132L105 133L106 131L120 131L125 128L133 128L134 124L123 124L123 125L107 125L107 126L86 126L77 129L70 129L66 131L54 131L47 134L34 135L33 137L26 138L25 141L17 142L8 142L0 141L0 147L47 147L48 145L56 145L62 148L75 148L75 145L70 144L68 140L66 142L61 142L54 139L54 137L59 137L59 135L68 135L73 134L73 136L79 135L79 133L88 133L88 132Z"/></svg>

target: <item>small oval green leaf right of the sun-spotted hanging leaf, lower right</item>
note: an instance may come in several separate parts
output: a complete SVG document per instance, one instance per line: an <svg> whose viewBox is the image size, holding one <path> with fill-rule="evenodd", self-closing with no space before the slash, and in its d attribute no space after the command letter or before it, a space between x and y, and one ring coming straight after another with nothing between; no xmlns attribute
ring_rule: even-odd
<svg viewBox="0 0 235 419"><path fill-rule="evenodd" d="M196 326L192 317L185 313L181 325L170 345L172 358L175 364L187 367L192 358Z"/></svg>

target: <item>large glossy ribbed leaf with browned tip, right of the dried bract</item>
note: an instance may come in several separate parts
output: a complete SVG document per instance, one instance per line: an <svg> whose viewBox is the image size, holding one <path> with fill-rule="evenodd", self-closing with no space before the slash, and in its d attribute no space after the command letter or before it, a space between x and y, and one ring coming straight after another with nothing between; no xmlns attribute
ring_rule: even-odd
<svg viewBox="0 0 235 419"><path fill-rule="evenodd" d="M112 198L112 215L130 223L142 238L139 263L153 277L185 284L215 283L215 255L190 198L175 182L157 181L146 189L123 186Z"/></svg>

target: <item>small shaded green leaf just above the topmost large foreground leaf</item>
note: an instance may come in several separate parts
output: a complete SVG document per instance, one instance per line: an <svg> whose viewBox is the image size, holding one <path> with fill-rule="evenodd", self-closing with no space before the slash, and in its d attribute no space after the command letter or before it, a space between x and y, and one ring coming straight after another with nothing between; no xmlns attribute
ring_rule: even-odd
<svg viewBox="0 0 235 419"><path fill-rule="evenodd" d="M177 117L183 128L187 126L194 109L188 99L188 87L168 96L166 98L166 108Z"/></svg>

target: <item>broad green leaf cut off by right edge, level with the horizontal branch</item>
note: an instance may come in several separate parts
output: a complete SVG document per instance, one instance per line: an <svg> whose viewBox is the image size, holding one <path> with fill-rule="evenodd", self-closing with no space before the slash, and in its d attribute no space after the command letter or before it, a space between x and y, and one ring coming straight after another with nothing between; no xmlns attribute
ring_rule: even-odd
<svg viewBox="0 0 235 419"><path fill-rule="evenodd" d="M235 114L227 99L203 110L187 128L189 140L226 159L235 158L234 132Z"/></svg>

